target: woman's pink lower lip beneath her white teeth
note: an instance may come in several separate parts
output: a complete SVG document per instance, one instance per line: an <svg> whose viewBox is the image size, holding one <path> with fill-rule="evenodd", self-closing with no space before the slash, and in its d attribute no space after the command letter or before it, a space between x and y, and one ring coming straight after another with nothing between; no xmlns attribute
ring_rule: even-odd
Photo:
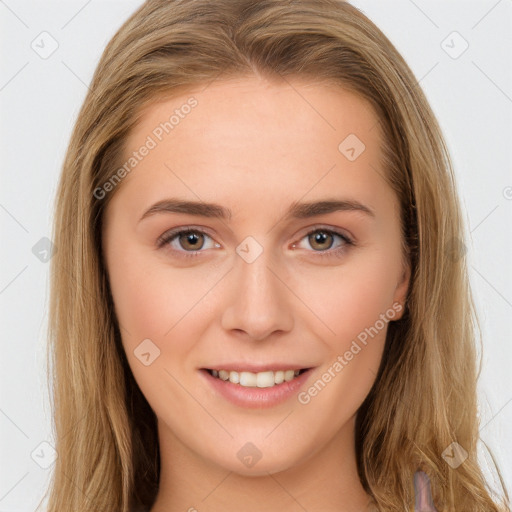
<svg viewBox="0 0 512 512"><path fill-rule="evenodd" d="M200 373L216 392L232 404L238 407L266 409L286 402L295 396L308 380L312 370L313 368L310 368L291 381L276 384L269 388L244 387L229 380L214 377L207 370L200 370Z"/></svg>

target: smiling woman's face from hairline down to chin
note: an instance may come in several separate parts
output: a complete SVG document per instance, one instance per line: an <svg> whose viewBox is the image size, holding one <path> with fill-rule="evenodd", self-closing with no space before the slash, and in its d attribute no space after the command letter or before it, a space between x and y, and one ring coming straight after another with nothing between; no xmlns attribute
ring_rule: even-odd
<svg viewBox="0 0 512 512"><path fill-rule="evenodd" d="M381 146L369 103L298 80L217 82L144 111L103 243L161 438L257 475L353 428L409 282Z"/></svg>

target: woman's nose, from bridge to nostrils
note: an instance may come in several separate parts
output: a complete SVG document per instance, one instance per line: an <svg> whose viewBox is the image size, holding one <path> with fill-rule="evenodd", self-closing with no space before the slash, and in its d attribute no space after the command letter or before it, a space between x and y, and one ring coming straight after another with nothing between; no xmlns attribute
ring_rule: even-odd
<svg viewBox="0 0 512 512"><path fill-rule="evenodd" d="M248 263L237 255L229 273L229 300L222 314L222 327L251 340L263 340L293 327L293 293L286 276L270 264L267 252Z"/></svg>

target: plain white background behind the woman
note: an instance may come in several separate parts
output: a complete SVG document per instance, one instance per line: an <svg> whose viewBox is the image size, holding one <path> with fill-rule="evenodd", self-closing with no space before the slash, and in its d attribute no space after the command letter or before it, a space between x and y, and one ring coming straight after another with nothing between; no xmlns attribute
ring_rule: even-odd
<svg viewBox="0 0 512 512"><path fill-rule="evenodd" d="M35 510L51 472L31 457L44 452L41 442L52 443L45 374L49 265L32 247L51 236L64 152L101 52L140 4L0 0L0 512ZM511 486L512 1L354 4L404 55L453 157L484 334L481 435ZM48 37L39 36L43 31L58 43L47 59L31 47ZM464 41L468 49L453 58Z"/></svg>

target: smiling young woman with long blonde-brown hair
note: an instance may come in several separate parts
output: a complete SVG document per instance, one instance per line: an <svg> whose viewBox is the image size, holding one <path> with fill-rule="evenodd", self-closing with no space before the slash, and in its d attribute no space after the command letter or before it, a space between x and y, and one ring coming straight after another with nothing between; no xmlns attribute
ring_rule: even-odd
<svg viewBox="0 0 512 512"><path fill-rule="evenodd" d="M54 231L49 511L506 510L449 157L354 7L146 2Z"/></svg>

